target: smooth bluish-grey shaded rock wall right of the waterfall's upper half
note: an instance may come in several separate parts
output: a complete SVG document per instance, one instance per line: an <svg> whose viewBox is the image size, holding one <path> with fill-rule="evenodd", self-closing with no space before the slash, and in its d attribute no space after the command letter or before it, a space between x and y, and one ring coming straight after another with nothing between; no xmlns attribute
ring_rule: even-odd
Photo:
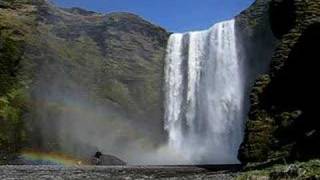
<svg viewBox="0 0 320 180"><path fill-rule="evenodd" d="M269 22L269 2L270 0L257 0L236 16L237 48L242 55L241 61L249 64L244 69L244 79L249 80L246 84L252 84L258 74L269 69L277 42Z"/></svg>

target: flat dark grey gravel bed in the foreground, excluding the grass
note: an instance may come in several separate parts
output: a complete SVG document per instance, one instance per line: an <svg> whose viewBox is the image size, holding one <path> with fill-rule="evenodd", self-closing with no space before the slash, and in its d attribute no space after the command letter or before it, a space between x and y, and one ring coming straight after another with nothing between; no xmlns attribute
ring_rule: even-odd
<svg viewBox="0 0 320 180"><path fill-rule="evenodd" d="M0 166L1 180L60 179L219 179L234 176L194 166Z"/></svg>

